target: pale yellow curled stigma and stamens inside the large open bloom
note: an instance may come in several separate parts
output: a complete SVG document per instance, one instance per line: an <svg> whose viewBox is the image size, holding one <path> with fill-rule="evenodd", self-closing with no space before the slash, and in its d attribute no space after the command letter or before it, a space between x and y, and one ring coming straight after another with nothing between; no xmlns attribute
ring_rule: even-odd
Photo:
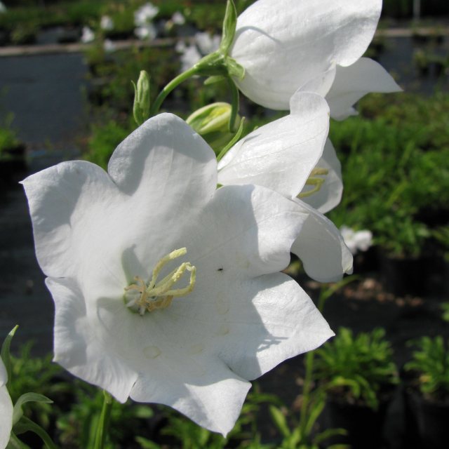
<svg viewBox="0 0 449 449"><path fill-rule="evenodd" d="M166 309L174 297L185 296L192 292L196 280L196 267L190 262L182 262L179 267L175 268L163 279L160 281L157 280L161 269L168 262L185 254L187 254L187 248L180 248L162 257L156 263L153 269L152 279L148 284L140 276L135 276L135 283L131 283L128 287L125 287L126 307L138 312L140 315L144 315L145 311ZM186 271L190 273L189 284L183 288L172 288Z"/></svg>

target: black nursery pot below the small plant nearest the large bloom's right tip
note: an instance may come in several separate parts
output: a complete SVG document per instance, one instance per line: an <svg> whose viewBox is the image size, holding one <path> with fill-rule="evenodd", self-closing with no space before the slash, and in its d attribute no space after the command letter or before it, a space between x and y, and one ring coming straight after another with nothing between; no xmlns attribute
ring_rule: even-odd
<svg viewBox="0 0 449 449"><path fill-rule="evenodd" d="M335 436L330 443L349 444L351 449L387 447L382 433L391 397L385 398L377 410L328 398L324 411L326 427L347 430L347 435Z"/></svg>

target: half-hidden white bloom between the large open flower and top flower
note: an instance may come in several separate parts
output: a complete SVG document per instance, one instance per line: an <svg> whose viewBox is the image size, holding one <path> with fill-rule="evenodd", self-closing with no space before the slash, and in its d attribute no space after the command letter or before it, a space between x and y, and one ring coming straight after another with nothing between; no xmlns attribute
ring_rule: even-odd
<svg viewBox="0 0 449 449"><path fill-rule="evenodd" d="M308 182L316 177L320 182L322 175L330 174L329 185L326 179L321 185L326 187L316 206L326 210L340 201L340 164L330 142L323 154L328 127L326 101L314 93L298 92L291 98L288 116L257 128L229 149L218 165L220 184L269 187L301 208L307 220L292 252L300 257L307 274L322 282L336 281L352 269L351 253L338 229L318 210L297 199L310 193ZM333 187L340 189L339 193L330 193ZM314 194L304 199L311 201Z"/></svg>

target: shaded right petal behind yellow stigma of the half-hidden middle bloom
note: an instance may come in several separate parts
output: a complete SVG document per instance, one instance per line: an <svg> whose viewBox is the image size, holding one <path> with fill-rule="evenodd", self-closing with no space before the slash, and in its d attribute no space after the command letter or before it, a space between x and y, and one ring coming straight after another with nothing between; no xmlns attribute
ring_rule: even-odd
<svg viewBox="0 0 449 449"><path fill-rule="evenodd" d="M340 203L343 193L342 166L329 139L326 140L323 156L316 163L316 168L326 168L328 174L319 176L324 180L319 191L310 196L304 196L302 201L319 210L319 212L326 213ZM307 192L309 189L310 187L306 186L302 189L302 192Z"/></svg>

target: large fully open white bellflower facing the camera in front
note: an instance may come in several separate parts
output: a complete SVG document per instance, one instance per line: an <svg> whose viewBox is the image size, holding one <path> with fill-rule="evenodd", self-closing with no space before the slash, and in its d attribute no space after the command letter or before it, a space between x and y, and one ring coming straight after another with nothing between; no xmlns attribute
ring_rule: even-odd
<svg viewBox="0 0 449 449"><path fill-rule="evenodd" d="M55 361L119 401L227 434L248 380L333 335L279 273L308 215L265 187L216 189L213 150L176 116L143 123L108 173L71 161L22 183Z"/></svg>

